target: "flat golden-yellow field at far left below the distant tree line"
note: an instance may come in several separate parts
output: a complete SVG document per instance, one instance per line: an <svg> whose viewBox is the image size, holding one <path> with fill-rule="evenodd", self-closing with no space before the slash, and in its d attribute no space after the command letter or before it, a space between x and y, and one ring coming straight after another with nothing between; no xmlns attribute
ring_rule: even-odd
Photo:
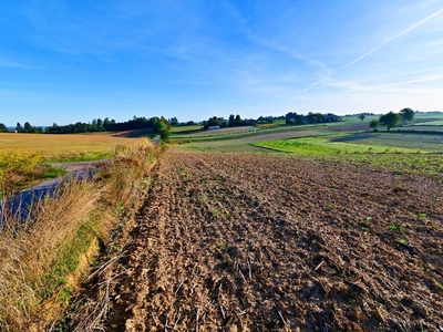
<svg viewBox="0 0 443 332"><path fill-rule="evenodd" d="M136 138L114 137L110 134L0 134L0 152L19 148L41 152L44 160L91 160L107 158L117 145L133 145Z"/></svg>

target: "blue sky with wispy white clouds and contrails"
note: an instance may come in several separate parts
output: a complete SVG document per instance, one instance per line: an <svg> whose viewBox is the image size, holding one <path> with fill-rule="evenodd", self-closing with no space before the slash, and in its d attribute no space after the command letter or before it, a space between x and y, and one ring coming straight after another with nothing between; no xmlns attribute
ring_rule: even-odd
<svg viewBox="0 0 443 332"><path fill-rule="evenodd" d="M443 0L4 0L0 123L443 111Z"/></svg>

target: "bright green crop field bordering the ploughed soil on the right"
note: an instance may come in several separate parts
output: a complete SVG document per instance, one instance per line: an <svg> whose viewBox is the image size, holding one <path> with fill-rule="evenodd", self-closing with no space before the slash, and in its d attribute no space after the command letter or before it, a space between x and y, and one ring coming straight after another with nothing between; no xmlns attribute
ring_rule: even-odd
<svg viewBox="0 0 443 332"><path fill-rule="evenodd" d="M348 133L259 142L254 145L301 158L320 158L362 167L443 177L442 135Z"/></svg>

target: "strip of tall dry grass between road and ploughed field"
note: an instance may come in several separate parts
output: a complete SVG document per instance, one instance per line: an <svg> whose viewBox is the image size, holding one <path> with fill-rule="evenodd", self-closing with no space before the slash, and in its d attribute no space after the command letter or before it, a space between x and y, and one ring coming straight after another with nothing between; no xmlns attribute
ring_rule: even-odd
<svg viewBox="0 0 443 332"><path fill-rule="evenodd" d="M61 185L27 220L3 211L1 331L41 331L61 317L110 231L137 200L159 149L147 141L121 146L91 180Z"/></svg>

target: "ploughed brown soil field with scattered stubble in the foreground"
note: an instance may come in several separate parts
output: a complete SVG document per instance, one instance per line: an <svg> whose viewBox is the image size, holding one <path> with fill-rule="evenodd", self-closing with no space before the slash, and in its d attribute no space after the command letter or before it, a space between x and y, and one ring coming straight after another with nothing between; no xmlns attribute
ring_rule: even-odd
<svg viewBox="0 0 443 332"><path fill-rule="evenodd" d="M107 329L439 331L442 196L435 179L392 172L168 153Z"/></svg>

